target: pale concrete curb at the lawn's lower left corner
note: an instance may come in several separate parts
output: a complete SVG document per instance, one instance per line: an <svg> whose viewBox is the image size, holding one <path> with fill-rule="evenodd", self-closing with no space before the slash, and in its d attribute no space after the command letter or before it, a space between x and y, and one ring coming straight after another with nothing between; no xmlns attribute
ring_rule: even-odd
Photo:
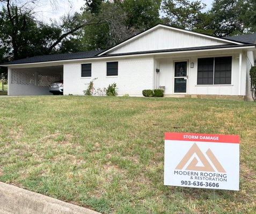
<svg viewBox="0 0 256 214"><path fill-rule="evenodd" d="M0 214L100 214L0 182Z"/></svg>

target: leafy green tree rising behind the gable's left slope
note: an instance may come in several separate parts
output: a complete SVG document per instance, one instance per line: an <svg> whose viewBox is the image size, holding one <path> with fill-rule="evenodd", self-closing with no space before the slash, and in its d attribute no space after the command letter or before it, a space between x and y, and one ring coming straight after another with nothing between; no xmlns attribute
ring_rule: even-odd
<svg viewBox="0 0 256 214"><path fill-rule="evenodd" d="M104 22L83 28L79 40L86 50L112 47L160 22L160 2L160 0L86 1L84 16L91 13Z"/></svg>

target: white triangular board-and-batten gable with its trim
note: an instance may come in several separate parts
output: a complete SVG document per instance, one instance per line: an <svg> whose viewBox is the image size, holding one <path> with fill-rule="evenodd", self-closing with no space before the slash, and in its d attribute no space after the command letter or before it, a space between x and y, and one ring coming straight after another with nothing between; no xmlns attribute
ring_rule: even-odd
<svg viewBox="0 0 256 214"><path fill-rule="evenodd" d="M145 30L145 32L141 34L131 37L130 39L104 51L103 53L100 53L100 55L203 47L223 44L243 43L159 24L155 27Z"/></svg>

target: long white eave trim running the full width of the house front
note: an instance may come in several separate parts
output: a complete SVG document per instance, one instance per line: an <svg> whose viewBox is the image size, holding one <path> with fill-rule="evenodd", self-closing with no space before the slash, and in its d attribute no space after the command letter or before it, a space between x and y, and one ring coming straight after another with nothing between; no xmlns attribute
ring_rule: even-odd
<svg viewBox="0 0 256 214"><path fill-rule="evenodd" d="M166 52L154 52L154 53L141 53L141 54L133 54L133 55L119 55L119 56L107 56L107 57L92 57L92 58L81 58L81 59L65 59L65 60L55 60L49 62L38 62L38 63L21 63L21 64L9 64L9 65L1 65L2 67L15 67L22 65L38 65L38 64L49 64L56 63L62 65L63 62L79 62L79 61L92 61L98 59L112 59L112 58L125 58L125 57L137 57L137 56L151 56L151 55L166 55L166 54L176 54L176 53L193 53L193 52L205 52L205 51L218 51L218 50L240 50L240 49L253 48L253 51L256 50L255 45L250 46L242 46L242 47L230 47L230 48L210 48L203 50L187 50L187 51L166 51ZM47 66L47 65L46 65ZM54 65L53 65L54 66Z"/></svg>

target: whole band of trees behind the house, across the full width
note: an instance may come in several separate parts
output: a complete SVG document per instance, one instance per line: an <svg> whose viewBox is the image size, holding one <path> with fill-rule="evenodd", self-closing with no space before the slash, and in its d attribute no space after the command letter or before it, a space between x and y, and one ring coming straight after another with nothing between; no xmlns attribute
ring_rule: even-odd
<svg viewBox="0 0 256 214"><path fill-rule="evenodd" d="M214 0L209 10L200 0L84 0L58 24L36 19L36 1L0 0L0 62L106 49L161 22L217 36L256 31L255 0Z"/></svg>

